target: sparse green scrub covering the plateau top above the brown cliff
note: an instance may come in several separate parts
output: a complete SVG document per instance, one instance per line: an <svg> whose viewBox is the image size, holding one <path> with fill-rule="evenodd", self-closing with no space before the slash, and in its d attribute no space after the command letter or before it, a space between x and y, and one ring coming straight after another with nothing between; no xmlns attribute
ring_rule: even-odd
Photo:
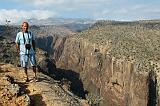
<svg viewBox="0 0 160 106"><path fill-rule="evenodd" d="M106 54L136 61L141 70L149 71L150 62L156 64L160 60L159 26L159 21L99 21L75 37L108 46Z"/></svg>

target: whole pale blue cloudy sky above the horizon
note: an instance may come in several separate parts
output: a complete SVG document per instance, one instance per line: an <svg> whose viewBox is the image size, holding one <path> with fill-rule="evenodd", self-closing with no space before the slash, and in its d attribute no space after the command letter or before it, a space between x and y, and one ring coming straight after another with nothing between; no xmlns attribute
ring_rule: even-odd
<svg viewBox="0 0 160 106"><path fill-rule="evenodd" d="M0 0L0 24L32 18L160 19L160 0Z"/></svg>

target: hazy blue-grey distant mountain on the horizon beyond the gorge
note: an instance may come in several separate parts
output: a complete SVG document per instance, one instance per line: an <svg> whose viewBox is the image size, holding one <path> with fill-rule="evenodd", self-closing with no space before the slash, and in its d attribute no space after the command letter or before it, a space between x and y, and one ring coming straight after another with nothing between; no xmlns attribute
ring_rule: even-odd
<svg viewBox="0 0 160 106"><path fill-rule="evenodd" d="M96 20L92 19L72 19L72 18L48 18L48 19L29 19L31 25L55 25L64 26L72 31L82 31L92 26Z"/></svg>

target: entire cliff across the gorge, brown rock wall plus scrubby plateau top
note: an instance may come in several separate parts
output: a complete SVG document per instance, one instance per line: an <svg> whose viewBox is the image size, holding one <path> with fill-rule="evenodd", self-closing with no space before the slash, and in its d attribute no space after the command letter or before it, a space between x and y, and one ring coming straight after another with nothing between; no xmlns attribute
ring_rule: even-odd
<svg viewBox="0 0 160 106"><path fill-rule="evenodd" d="M158 105L160 32L140 25L95 26L66 39L56 65L80 74L91 104Z"/></svg>

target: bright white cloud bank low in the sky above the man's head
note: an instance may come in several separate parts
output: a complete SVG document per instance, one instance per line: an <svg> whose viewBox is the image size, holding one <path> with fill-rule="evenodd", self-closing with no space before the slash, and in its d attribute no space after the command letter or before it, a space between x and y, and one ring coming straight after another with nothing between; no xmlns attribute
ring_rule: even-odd
<svg viewBox="0 0 160 106"><path fill-rule="evenodd" d="M16 10L16 9L0 9L0 24L5 24L6 20L10 20L11 23L17 23L22 20L36 18L47 19L49 17L56 16L57 13L48 10Z"/></svg>

